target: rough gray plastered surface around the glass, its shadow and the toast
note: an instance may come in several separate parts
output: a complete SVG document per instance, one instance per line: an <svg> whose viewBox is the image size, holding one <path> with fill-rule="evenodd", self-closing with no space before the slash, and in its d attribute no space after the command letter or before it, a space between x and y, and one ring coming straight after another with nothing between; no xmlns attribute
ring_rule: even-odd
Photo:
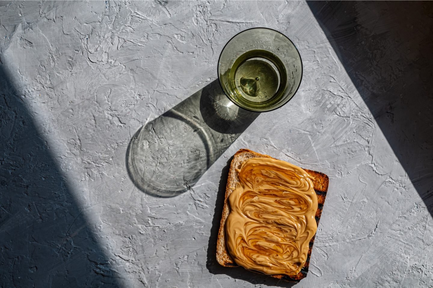
<svg viewBox="0 0 433 288"><path fill-rule="evenodd" d="M293 286L215 261L240 148L330 177L294 287L433 287L431 11L406 9L405 23L350 5L329 8L350 20L329 27L305 2L1 2L0 287ZM133 135L212 83L224 44L259 26L297 45L297 94L236 132L186 192L143 193L126 167ZM376 42L353 50L339 41L350 35Z"/></svg>

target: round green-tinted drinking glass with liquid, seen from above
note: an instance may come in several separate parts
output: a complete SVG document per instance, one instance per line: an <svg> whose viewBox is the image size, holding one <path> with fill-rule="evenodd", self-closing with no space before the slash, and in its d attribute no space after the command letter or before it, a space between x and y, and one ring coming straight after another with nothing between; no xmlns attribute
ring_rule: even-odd
<svg viewBox="0 0 433 288"><path fill-rule="evenodd" d="M280 108L296 93L302 60L293 42L269 28L235 35L218 60L218 78L227 97L249 111Z"/></svg>

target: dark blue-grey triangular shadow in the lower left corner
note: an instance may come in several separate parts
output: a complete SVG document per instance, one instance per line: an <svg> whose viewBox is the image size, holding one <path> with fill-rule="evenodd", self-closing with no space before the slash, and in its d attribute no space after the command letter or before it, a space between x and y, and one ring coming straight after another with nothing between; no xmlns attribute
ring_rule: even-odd
<svg viewBox="0 0 433 288"><path fill-rule="evenodd" d="M120 287L23 99L0 66L0 287Z"/></svg>

